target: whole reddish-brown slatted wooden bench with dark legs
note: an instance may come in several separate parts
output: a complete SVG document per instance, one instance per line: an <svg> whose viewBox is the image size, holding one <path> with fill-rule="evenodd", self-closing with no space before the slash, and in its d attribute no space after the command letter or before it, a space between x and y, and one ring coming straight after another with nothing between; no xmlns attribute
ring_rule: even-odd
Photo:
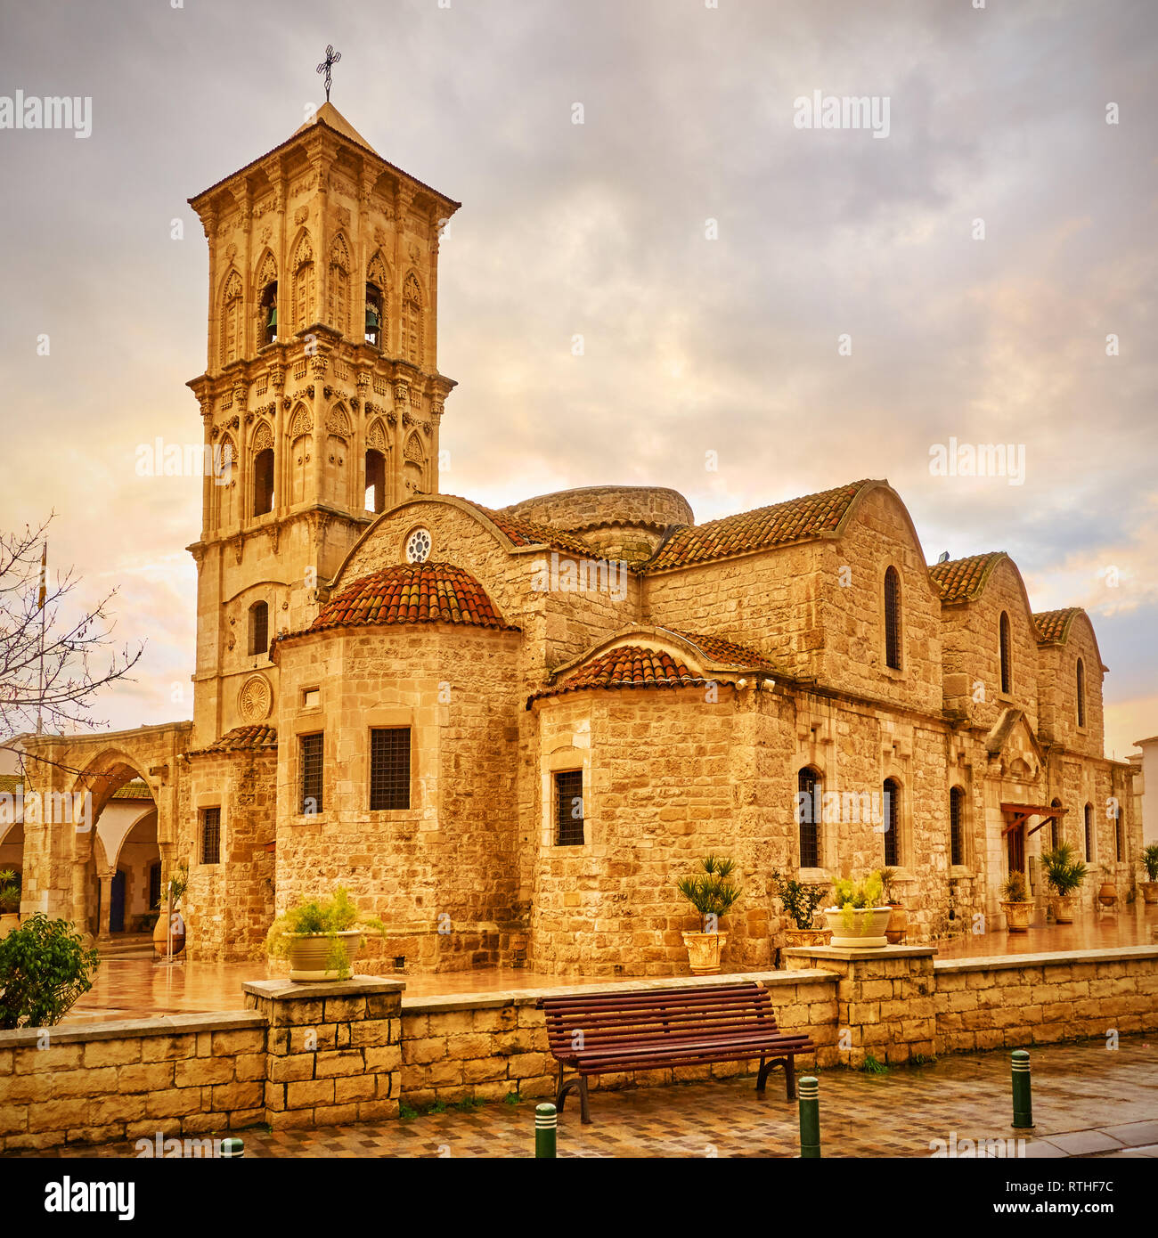
<svg viewBox="0 0 1158 1238"><path fill-rule="evenodd" d="M758 1057L757 1093L764 1094L768 1072L780 1066L791 1101L793 1057L816 1049L806 1035L779 1031L772 998L755 982L540 998L535 1005L546 1015L547 1042L559 1062L555 1104L561 1112L567 1093L578 1088L585 1123L591 1122L591 1075ZM576 1077L564 1082L568 1067Z"/></svg>

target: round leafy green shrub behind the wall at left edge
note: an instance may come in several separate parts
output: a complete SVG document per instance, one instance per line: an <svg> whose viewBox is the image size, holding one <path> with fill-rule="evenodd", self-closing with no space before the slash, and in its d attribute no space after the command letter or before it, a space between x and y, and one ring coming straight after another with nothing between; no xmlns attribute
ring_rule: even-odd
<svg viewBox="0 0 1158 1238"><path fill-rule="evenodd" d="M99 963L69 921L28 916L0 941L0 1029L59 1023L93 987Z"/></svg>

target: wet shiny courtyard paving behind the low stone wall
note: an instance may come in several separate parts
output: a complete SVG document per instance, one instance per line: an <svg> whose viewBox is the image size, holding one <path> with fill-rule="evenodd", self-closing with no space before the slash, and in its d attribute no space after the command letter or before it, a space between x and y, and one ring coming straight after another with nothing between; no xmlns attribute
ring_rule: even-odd
<svg viewBox="0 0 1158 1238"><path fill-rule="evenodd" d="M1074 925L1049 925L1024 933L1003 928L986 935L966 933L938 942L941 958L985 954L1024 954L1049 951L1112 950L1115 946L1154 943L1158 906L1143 910L1142 904L1126 906L1117 916L1085 916ZM249 963L178 963L161 967L146 952L142 956L109 954L102 959L93 988L69 1013L68 1023L93 1023L110 1019L147 1018L172 1013L244 1010L243 980L259 980L277 974L263 958ZM445 972L438 976L404 976L406 997L443 993L495 993L507 989L551 988L585 984L608 977L542 976L531 971L493 968L482 972ZM620 977L630 983L633 977Z"/></svg>

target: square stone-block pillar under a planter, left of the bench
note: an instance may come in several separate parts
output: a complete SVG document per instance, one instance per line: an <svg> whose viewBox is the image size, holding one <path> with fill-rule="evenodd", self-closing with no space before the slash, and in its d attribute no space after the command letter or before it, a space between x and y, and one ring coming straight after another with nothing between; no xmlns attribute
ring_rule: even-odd
<svg viewBox="0 0 1158 1238"><path fill-rule="evenodd" d="M396 1118L405 987L373 976L243 984L246 1008L269 1024L265 1120L286 1129Z"/></svg>

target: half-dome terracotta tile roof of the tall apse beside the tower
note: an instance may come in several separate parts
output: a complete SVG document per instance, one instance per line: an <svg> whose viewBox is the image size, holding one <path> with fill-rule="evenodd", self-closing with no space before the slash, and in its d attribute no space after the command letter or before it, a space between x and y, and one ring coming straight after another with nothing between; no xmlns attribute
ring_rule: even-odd
<svg viewBox="0 0 1158 1238"><path fill-rule="evenodd" d="M407 623L518 630L478 581L453 563L399 563L363 576L334 594L308 630Z"/></svg>

